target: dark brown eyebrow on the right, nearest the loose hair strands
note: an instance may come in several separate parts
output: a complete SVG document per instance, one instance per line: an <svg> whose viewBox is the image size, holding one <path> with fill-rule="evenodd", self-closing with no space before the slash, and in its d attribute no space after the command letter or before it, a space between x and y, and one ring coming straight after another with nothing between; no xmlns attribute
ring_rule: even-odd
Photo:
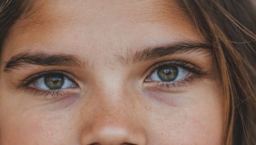
<svg viewBox="0 0 256 145"><path fill-rule="evenodd" d="M204 53L212 54L212 49L213 46L207 43L179 41L174 44L152 46L150 48L138 50L135 53L132 53L132 50L127 50L126 55L118 55L117 57L120 62L129 65L186 52L202 51Z"/></svg>

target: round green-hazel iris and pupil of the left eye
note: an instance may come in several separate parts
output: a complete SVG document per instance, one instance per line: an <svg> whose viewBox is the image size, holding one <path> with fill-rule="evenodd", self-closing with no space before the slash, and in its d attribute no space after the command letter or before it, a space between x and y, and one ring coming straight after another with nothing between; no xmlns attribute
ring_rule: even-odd
<svg viewBox="0 0 256 145"><path fill-rule="evenodd" d="M60 89L64 83L64 76L56 74L45 76L44 83L50 90Z"/></svg>

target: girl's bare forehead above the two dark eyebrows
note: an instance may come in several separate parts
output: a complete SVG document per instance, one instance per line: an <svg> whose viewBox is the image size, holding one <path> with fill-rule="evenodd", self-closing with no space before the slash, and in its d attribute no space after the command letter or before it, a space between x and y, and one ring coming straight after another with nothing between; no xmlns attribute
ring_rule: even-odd
<svg viewBox="0 0 256 145"><path fill-rule="evenodd" d="M31 1L6 38L3 59L32 49L94 58L202 40L175 1Z"/></svg>

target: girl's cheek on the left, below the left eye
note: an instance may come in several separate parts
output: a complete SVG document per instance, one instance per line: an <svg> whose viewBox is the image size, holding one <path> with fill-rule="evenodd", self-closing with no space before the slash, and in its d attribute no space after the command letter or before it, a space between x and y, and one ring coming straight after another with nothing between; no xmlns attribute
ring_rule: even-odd
<svg viewBox="0 0 256 145"><path fill-rule="evenodd" d="M65 115L67 116L67 115ZM70 118L62 113L29 110L6 116L1 122L3 144L63 144L72 138Z"/></svg>

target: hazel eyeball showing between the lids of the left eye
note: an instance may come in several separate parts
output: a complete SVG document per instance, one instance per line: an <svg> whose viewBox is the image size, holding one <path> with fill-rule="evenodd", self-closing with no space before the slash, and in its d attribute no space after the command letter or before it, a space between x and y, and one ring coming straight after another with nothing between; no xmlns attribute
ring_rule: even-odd
<svg viewBox="0 0 256 145"><path fill-rule="evenodd" d="M72 88L76 84L63 74L46 74L35 81L36 88L44 90L60 90L63 88Z"/></svg>

